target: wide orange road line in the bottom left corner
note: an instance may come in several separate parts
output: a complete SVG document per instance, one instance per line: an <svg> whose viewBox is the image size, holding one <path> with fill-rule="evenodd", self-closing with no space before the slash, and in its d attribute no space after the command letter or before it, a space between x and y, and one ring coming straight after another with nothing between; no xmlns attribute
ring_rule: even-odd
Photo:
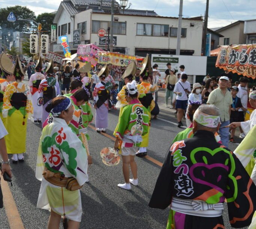
<svg viewBox="0 0 256 229"><path fill-rule="evenodd" d="M0 175L1 176L1 175ZM19 215L18 209L16 207L15 201L10 191L9 185L3 180L1 176L1 189L3 192L3 204L6 211L6 215L9 221L10 229L25 229Z"/></svg>

